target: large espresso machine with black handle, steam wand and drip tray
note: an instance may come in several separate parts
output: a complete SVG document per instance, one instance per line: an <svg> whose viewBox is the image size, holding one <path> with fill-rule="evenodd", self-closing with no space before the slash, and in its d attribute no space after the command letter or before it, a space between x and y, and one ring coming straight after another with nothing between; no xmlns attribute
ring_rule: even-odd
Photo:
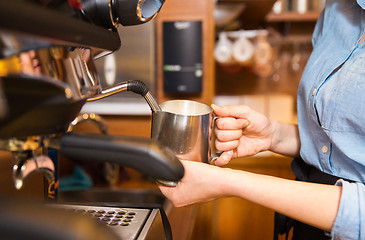
<svg viewBox="0 0 365 240"><path fill-rule="evenodd" d="M118 27L150 21L163 4L164 0L0 0L0 149L12 153L14 187L21 189L28 176L41 173L45 200L52 202L29 207L24 201L0 198L0 218L8 219L0 221L1 239L148 239L157 218L164 225L162 238L171 237L159 206L58 203L57 166L50 156L56 151L80 161L111 162L167 185L183 177L176 156L157 141L67 132L86 102L123 91L141 95L152 112L159 110L141 81L103 89L94 59L123 51ZM35 214L35 209L44 214ZM67 212L87 213L99 221L74 214L65 220ZM54 219L63 221L51 224ZM87 231L80 230L86 229L78 227L80 222L88 224Z"/></svg>

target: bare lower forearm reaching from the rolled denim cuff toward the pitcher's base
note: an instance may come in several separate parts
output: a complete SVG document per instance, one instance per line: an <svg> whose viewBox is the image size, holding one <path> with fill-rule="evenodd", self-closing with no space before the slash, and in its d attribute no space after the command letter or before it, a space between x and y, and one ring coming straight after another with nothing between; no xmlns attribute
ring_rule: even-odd
<svg viewBox="0 0 365 240"><path fill-rule="evenodd" d="M342 188L286 180L226 169L220 191L271 208L288 217L330 231L340 204Z"/></svg>

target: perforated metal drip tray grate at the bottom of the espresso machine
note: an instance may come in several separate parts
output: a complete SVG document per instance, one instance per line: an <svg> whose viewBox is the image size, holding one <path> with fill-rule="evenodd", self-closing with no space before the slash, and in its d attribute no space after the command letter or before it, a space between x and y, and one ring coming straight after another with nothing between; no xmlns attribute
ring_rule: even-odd
<svg viewBox="0 0 365 240"><path fill-rule="evenodd" d="M99 219L110 227L121 240L145 239L154 218L159 213L156 209L105 207L55 204L57 208L72 210Z"/></svg>

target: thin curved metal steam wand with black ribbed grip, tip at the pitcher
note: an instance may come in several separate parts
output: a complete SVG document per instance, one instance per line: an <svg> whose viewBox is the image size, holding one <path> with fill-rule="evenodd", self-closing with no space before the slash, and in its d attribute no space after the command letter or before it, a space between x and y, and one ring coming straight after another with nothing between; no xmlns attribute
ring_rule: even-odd
<svg viewBox="0 0 365 240"><path fill-rule="evenodd" d="M158 105L158 103L150 93L146 84L140 80L129 80L126 82L119 83L115 86L105 88L96 96L88 98L87 101L88 102L96 101L123 91L131 91L144 97L144 99L150 106L152 112L155 113L161 111L160 105Z"/></svg>

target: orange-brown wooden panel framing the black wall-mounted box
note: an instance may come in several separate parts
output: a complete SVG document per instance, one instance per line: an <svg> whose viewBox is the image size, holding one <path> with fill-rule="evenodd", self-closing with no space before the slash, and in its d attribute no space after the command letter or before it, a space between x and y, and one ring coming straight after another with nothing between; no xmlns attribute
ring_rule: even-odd
<svg viewBox="0 0 365 240"><path fill-rule="evenodd" d="M190 99L206 104L212 103L214 93L214 1L169 0L156 19L157 29L157 95L158 101ZM163 90L163 23L168 21L202 22L202 92L194 95L167 94Z"/></svg>

